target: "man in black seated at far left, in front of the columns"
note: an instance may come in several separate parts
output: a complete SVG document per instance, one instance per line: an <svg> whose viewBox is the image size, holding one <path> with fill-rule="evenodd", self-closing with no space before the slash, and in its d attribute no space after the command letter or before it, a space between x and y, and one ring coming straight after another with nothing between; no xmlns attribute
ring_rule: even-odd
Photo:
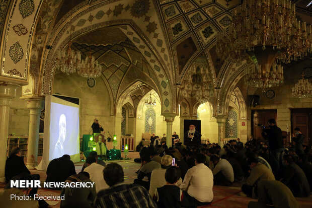
<svg viewBox="0 0 312 208"><path fill-rule="evenodd" d="M9 183L10 179L14 176L20 175L21 173L29 173L24 163L24 158L21 157L21 148L13 148L11 156L6 161L6 182Z"/></svg>

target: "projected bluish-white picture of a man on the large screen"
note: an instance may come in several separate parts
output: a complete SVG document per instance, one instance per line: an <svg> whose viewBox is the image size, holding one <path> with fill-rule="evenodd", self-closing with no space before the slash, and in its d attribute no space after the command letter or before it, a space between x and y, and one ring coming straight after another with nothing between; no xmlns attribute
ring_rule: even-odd
<svg viewBox="0 0 312 208"><path fill-rule="evenodd" d="M79 154L79 108L51 102L49 160Z"/></svg>

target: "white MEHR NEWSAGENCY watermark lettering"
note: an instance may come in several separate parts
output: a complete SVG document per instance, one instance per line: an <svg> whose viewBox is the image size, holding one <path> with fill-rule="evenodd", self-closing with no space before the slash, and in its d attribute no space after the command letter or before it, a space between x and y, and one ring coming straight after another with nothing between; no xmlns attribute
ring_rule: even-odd
<svg viewBox="0 0 312 208"><path fill-rule="evenodd" d="M11 180L12 188L41 188L40 180ZM92 188L94 182L44 182L44 188Z"/></svg>

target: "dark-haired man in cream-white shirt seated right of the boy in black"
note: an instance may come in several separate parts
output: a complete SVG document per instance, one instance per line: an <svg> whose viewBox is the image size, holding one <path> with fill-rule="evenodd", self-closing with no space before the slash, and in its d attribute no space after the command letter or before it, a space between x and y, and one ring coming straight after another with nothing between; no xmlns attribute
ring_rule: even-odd
<svg viewBox="0 0 312 208"><path fill-rule="evenodd" d="M205 166L205 162L206 157L203 154L197 154L195 166L187 171L180 186L185 197L198 205L210 203L213 199L213 175L211 170Z"/></svg>

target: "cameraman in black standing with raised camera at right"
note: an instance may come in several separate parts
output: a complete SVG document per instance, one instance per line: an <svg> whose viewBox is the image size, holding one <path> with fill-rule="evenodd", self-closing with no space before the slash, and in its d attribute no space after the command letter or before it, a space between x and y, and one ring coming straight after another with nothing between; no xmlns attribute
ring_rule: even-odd
<svg viewBox="0 0 312 208"><path fill-rule="evenodd" d="M282 130L276 126L275 119L271 118L268 120L269 127L263 128L261 135L265 140L269 141L269 151L272 170L275 174L279 173L280 166L283 161L283 136Z"/></svg>

